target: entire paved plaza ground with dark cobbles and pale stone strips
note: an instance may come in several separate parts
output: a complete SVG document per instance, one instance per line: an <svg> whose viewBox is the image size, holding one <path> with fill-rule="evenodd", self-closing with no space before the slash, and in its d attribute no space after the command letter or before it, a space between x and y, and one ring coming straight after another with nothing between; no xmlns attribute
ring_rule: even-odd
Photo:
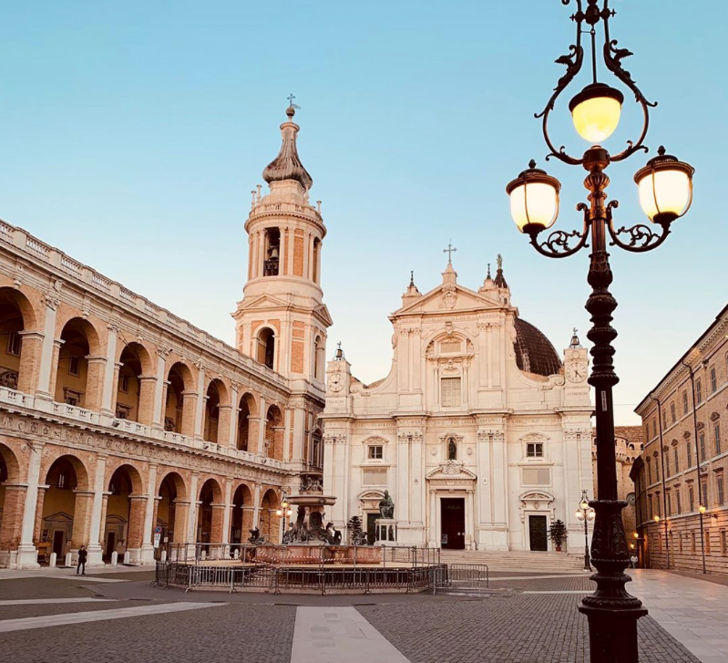
<svg viewBox="0 0 728 663"><path fill-rule="evenodd" d="M728 586L631 572L641 661L728 660ZM0 572L0 660L16 663L581 663L586 575L496 572L478 594L271 596L166 590L147 569Z"/></svg>

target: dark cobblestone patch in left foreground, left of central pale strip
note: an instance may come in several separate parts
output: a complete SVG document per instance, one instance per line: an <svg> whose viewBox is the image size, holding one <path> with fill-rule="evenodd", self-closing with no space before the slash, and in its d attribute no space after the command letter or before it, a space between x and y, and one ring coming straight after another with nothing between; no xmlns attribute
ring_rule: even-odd
<svg viewBox="0 0 728 663"><path fill-rule="evenodd" d="M14 663L289 663L295 610L233 605L19 631L3 634L2 650Z"/></svg>

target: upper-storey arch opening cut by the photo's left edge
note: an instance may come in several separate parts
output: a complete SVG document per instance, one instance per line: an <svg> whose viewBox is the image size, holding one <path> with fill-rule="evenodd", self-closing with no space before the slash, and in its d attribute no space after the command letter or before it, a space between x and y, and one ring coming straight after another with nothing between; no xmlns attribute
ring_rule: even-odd
<svg viewBox="0 0 728 663"><path fill-rule="evenodd" d="M0 287L0 386L30 392L37 382L42 340L24 336L38 316L19 290Z"/></svg>

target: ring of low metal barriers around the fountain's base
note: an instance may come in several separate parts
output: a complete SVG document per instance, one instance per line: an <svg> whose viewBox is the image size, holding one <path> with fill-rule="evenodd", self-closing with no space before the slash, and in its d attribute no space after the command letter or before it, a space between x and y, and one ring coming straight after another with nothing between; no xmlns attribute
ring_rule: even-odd
<svg viewBox="0 0 728 663"><path fill-rule="evenodd" d="M237 591L311 592L405 592L435 591L438 577L446 574L446 565L391 568L333 568L331 566L216 566L178 562L158 562L154 585Z"/></svg>

